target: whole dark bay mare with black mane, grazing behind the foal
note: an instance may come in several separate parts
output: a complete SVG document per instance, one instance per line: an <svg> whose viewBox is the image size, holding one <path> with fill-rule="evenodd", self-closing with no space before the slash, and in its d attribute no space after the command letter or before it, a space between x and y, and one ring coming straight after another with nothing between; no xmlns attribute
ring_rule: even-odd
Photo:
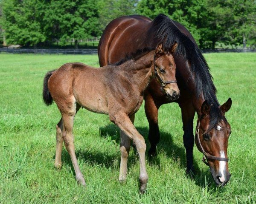
<svg viewBox="0 0 256 204"><path fill-rule="evenodd" d="M224 113L230 109L232 102L229 99L222 106L219 104L207 62L183 25L163 14L153 21L139 15L116 18L108 24L100 39L100 66L118 62L125 54L144 47L154 47L159 42L163 42L165 51L170 50L175 42L178 45L174 58L180 98L176 102L182 114L187 172L194 172L193 119L196 112L198 136L195 142L204 153L204 161L207 160L215 183L224 186L230 179L227 144L231 133ZM172 101L164 96L160 85L153 79L145 90L145 113L149 122L148 139L151 144L149 155L156 154L157 143L160 141L158 109L169 102Z"/></svg>

